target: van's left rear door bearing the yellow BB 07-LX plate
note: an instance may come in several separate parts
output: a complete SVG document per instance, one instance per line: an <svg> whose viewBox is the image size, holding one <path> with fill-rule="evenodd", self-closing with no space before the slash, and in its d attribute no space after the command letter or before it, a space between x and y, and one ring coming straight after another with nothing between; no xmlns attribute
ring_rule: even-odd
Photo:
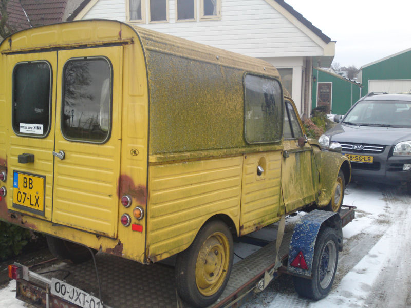
<svg viewBox="0 0 411 308"><path fill-rule="evenodd" d="M56 52L7 56L9 208L45 220L52 216L56 68Z"/></svg>

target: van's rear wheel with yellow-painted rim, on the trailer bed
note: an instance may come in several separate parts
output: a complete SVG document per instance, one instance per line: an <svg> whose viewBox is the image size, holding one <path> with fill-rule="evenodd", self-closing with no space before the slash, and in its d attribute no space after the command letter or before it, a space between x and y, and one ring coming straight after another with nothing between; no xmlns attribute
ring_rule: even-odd
<svg viewBox="0 0 411 308"><path fill-rule="evenodd" d="M233 264L233 237L222 221L201 227L193 243L176 259L175 277L181 298L195 306L215 302L227 285Z"/></svg>

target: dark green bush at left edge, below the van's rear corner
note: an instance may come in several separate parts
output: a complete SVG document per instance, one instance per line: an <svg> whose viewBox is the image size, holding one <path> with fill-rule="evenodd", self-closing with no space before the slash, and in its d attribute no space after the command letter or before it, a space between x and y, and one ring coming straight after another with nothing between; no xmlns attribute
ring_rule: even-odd
<svg viewBox="0 0 411 308"><path fill-rule="evenodd" d="M20 254L23 247L35 238L28 229L0 221L0 260Z"/></svg>

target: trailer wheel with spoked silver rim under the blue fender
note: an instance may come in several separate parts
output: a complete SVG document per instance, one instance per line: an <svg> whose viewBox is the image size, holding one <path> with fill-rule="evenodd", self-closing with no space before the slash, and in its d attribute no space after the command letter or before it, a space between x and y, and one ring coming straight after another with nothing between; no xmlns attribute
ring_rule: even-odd
<svg viewBox="0 0 411 308"><path fill-rule="evenodd" d="M327 296L337 272L338 241L332 228L324 228L317 237L312 263L312 279L293 277L295 291L319 300Z"/></svg>

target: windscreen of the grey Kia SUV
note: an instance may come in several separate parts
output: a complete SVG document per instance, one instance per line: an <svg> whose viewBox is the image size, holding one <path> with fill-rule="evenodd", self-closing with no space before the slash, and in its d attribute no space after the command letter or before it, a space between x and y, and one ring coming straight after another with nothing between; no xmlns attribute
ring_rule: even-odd
<svg viewBox="0 0 411 308"><path fill-rule="evenodd" d="M411 102L361 101L346 115L343 123L411 128Z"/></svg>

